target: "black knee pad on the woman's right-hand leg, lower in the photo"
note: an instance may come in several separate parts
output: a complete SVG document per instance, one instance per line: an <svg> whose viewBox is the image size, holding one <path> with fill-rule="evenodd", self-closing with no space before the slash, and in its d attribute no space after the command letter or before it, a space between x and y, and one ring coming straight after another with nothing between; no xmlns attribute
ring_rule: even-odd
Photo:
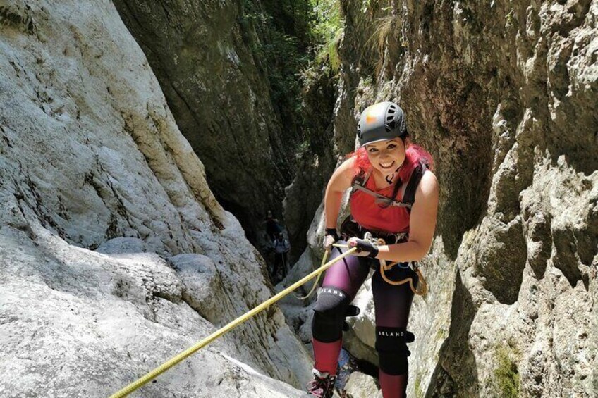
<svg viewBox="0 0 598 398"><path fill-rule="evenodd" d="M415 336L405 328L376 327L376 351L380 369L389 375L404 375L408 371L407 357L411 352L407 343Z"/></svg>

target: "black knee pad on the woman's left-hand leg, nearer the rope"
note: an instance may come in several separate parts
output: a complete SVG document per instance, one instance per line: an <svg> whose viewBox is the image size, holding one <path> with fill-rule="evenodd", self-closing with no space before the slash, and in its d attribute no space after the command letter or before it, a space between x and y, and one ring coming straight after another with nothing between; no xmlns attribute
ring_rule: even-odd
<svg viewBox="0 0 598 398"><path fill-rule="evenodd" d="M324 343L340 339L349 304L348 294L342 290L332 286L322 287L314 308L313 337Z"/></svg>

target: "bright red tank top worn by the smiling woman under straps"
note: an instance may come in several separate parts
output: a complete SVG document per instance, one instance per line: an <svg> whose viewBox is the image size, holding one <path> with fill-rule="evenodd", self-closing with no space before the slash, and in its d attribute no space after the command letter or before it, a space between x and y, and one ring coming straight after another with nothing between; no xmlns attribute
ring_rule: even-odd
<svg viewBox="0 0 598 398"><path fill-rule="evenodd" d="M374 192L391 197L393 185L376 189L374 178L370 176L365 182L365 187ZM403 188L396 195L401 200ZM405 207L381 207L376 203L376 198L362 191L355 191L350 198L351 216L358 224L368 230L379 230L389 233L409 232L409 212Z"/></svg>

